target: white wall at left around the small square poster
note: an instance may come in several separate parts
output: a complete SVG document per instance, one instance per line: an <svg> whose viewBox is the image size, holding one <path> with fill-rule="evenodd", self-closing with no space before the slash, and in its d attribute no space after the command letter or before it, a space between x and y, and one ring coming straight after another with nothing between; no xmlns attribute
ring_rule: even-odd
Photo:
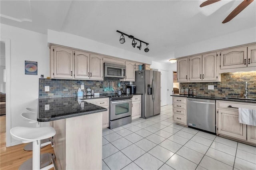
<svg viewBox="0 0 256 170"><path fill-rule="evenodd" d="M40 75L50 75L50 55L47 36L36 32L1 24L1 38L10 39L11 45L11 127L29 125L20 114L26 107L37 108ZM38 75L24 74L24 61L38 62ZM20 143L11 140L12 145Z"/></svg>

